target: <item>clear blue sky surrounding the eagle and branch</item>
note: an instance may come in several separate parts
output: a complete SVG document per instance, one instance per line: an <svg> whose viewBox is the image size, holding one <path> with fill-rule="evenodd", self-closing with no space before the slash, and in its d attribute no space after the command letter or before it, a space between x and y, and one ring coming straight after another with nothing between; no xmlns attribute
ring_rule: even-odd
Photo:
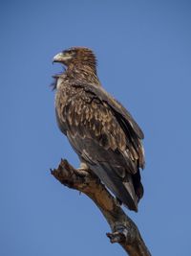
<svg viewBox="0 0 191 256"><path fill-rule="evenodd" d="M78 160L56 127L52 65L87 46L104 87L144 130L139 212L129 213L155 256L189 256L190 1L1 1L0 255L125 255L93 202L50 168Z"/></svg>

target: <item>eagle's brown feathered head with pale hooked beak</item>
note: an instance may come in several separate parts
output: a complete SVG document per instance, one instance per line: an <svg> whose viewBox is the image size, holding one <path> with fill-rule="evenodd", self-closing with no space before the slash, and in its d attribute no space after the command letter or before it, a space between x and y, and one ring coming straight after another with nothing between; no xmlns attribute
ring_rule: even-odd
<svg viewBox="0 0 191 256"><path fill-rule="evenodd" d="M96 68L96 57L93 51L85 47L72 47L53 57L53 62L59 62L65 66L70 64L84 64Z"/></svg>

